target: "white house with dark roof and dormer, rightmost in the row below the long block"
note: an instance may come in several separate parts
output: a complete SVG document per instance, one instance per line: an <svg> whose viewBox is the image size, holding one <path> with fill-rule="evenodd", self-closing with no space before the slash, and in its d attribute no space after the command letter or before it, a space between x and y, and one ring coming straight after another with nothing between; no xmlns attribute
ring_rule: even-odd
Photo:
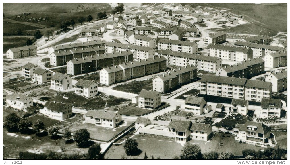
<svg viewBox="0 0 290 165"><path fill-rule="evenodd" d="M262 98L260 117L281 117L281 99Z"/></svg>

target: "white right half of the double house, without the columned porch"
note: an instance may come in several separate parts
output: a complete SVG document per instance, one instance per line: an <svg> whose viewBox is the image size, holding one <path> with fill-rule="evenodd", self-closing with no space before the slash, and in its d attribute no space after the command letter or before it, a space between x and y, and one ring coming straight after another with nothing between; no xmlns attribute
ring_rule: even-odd
<svg viewBox="0 0 290 165"><path fill-rule="evenodd" d="M211 138L212 127L210 124L192 123L189 134L191 139L208 141Z"/></svg>

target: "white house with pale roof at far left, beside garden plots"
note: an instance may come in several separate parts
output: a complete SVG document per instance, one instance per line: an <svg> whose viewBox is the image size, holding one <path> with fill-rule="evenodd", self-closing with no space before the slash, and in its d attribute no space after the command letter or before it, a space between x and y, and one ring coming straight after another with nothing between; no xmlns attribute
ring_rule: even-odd
<svg viewBox="0 0 290 165"><path fill-rule="evenodd" d="M6 103L17 110L25 110L27 107L33 106L33 99L24 94L14 93L6 97Z"/></svg>

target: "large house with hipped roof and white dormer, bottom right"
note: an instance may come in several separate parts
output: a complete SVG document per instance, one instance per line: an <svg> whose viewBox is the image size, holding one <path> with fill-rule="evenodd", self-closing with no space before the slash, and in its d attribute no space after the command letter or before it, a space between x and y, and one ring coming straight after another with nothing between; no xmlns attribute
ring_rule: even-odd
<svg viewBox="0 0 290 165"><path fill-rule="evenodd" d="M240 140L248 140L254 142L267 142L267 138L270 138L271 128L263 123L257 123L254 121L247 121L239 128L238 137Z"/></svg>

